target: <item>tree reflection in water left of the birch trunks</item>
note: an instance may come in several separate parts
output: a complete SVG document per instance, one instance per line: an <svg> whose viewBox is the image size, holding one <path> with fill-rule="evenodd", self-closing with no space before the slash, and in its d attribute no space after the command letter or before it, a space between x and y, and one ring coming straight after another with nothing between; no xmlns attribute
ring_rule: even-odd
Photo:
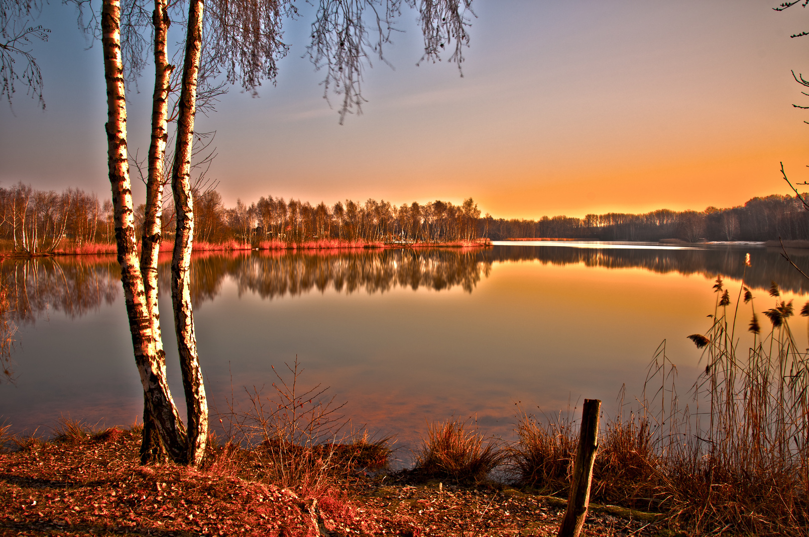
<svg viewBox="0 0 809 537"><path fill-rule="evenodd" d="M0 278L8 292L11 316L32 322L53 310L81 317L115 302L121 269L113 256L5 259Z"/></svg>

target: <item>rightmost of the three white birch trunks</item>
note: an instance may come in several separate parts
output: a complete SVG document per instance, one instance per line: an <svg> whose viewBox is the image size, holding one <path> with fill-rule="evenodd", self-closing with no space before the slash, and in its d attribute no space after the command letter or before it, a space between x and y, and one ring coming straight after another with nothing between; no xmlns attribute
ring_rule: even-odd
<svg viewBox="0 0 809 537"><path fill-rule="evenodd" d="M191 193L191 151L194 114L197 108L197 76L202 52L201 0L188 3L188 34L185 38L180 106L177 115L177 145L172 169L172 191L176 210L176 235L172 254L172 306L183 373L185 404L188 408L188 463L199 464L208 439L208 402L197 356L197 337L191 308L191 247L194 234Z"/></svg>

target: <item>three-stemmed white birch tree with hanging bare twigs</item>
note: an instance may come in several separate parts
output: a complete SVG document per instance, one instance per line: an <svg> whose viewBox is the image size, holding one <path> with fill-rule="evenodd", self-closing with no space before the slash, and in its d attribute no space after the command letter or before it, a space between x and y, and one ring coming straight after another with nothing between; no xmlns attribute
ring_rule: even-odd
<svg viewBox="0 0 809 537"><path fill-rule="evenodd" d="M76 0L80 5L84 0ZM418 10L425 36L422 60L438 59L445 44L455 41L451 61L460 67L461 49L468 45L467 12L471 0L405 0L404 4ZM342 94L341 122L352 108L360 109L362 69L371 52L383 60L383 44L389 43L392 20L400 15L401 0L321 0L312 24L311 60L325 67L324 86ZM294 0L257 0L241 2L213 0L211 2L210 44L213 57L222 65L228 82L239 83L255 91L260 83L274 82L276 61L288 47L281 40L282 21L297 15ZM369 31L362 18L369 8L374 24ZM155 0L151 18L154 32L155 89L152 107L152 132L149 150L146 207L144 211L142 254L138 263L133 224L133 201L129 182L126 141L125 78L137 78L142 64L139 52L144 9L138 0L130 0L123 28L121 2L104 0L101 29L104 48L104 73L108 86L108 154L115 213L116 244L121 263L130 332L135 361L141 373L145 409L142 461L150 455L165 451L178 462L199 464L207 438L207 404L201 375L197 342L194 334L193 308L190 290L190 256L193 247L194 213L193 186L190 169L193 153L194 115L197 111L200 61L205 24L204 3L188 1L184 61L180 81L180 99L176 117L176 147L171 174L174 208L176 211L175 245L172 253L172 308L180 354L180 369L188 409L188 430L180 422L176 406L165 377L165 358L157 306L156 263L160 243L160 200L163 188L163 167L167 141L167 94L172 65L167 61L167 31L170 19L165 0ZM375 36L375 40L371 39ZM129 55L122 55L126 48ZM128 58L128 63L127 63ZM368 62L370 65L370 62ZM353 226L356 228L356 223ZM356 232L356 229L353 229Z"/></svg>

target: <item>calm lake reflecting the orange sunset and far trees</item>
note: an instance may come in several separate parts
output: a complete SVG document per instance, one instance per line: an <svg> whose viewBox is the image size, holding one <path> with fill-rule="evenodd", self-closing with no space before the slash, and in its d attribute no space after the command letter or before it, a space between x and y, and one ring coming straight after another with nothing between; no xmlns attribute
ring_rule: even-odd
<svg viewBox="0 0 809 537"><path fill-rule="evenodd" d="M790 254L809 267L809 251ZM0 422L31 432L62 415L107 426L139 420L142 391L115 258L6 258L0 271L19 325L15 383L0 384ZM773 307L771 280L797 311L809 292L778 250L760 245L201 252L192 274L212 408L244 403L245 387L272 395L271 366L283 373L297 357L299 384L328 387L355 429L396 434L411 447L427 422L452 416L477 417L481 430L509 438L519 407L554 414L598 398L614 414L622 386L628 403L642 392L663 340L685 397L701 356L686 336L709 328L718 275L734 307L743 278L759 312ZM168 276L165 257L163 342L184 412ZM748 309L739 314L742 345L749 317ZM806 323L792 319L798 345L807 346Z"/></svg>

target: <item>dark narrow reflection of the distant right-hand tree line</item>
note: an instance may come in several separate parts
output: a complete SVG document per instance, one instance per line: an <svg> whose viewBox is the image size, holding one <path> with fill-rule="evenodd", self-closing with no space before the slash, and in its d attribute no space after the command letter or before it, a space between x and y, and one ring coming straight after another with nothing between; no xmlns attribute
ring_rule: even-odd
<svg viewBox="0 0 809 537"><path fill-rule="evenodd" d="M752 266L744 270L744 255L750 254ZM775 281L782 290L798 293L809 292L809 281L798 274L775 248L739 246L713 246L709 248L686 248L683 250L618 250L574 248L568 246L494 246L484 253L485 258L495 261L537 260L553 265L583 263L586 266L605 268L643 268L647 271L666 274L679 272L683 275L699 274L705 278L722 275L741 279L748 287L769 289ZM809 267L809 251L790 250L795 264ZM807 271L807 269L804 269Z"/></svg>

